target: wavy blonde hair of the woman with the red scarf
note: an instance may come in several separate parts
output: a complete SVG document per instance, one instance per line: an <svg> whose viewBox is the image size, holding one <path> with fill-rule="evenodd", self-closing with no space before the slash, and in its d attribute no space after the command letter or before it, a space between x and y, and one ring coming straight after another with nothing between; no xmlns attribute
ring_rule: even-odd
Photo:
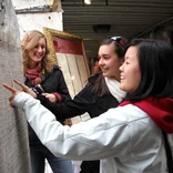
<svg viewBox="0 0 173 173"><path fill-rule="evenodd" d="M26 69L26 67L28 65L28 59L29 59L28 52L37 45L37 43L39 42L39 40L41 38L45 39L45 55L41 61L41 67L43 70L51 72L53 70L53 62L49 58L49 49L48 49L48 44L47 44L47 38L42 32L40 32L38 30L31 30L31 31L27 32L21 41L23 69Z"/></svg>

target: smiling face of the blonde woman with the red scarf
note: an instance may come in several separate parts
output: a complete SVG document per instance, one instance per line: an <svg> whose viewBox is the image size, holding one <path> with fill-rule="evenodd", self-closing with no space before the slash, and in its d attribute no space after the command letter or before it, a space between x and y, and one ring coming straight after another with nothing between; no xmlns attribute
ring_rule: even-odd
<svg viewBox="0 0 173 173"><path fill-rule="evenodd" d="M45 48L47 43L45 43L45 39L44 38L40 38L40 40L38 41L38 43L35 44L34 48L32 48L31 50L29 50L28 54L29 54L29 60L28 63L29 64L38 64L39 62L41 62L41 60L44 58L45 55Z"/></svg>

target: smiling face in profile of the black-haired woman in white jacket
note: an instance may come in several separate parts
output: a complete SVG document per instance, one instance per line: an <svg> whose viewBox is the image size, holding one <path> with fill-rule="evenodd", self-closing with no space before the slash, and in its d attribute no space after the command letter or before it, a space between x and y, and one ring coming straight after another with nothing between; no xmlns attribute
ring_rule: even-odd
<svg viewBox="0 0 173 173"><path fill-rule="evenodd" d="M120 89L129 93L135 91L141 81L138 48L130 47L125 53L125 61L120 67L121 84Z"/></svg>

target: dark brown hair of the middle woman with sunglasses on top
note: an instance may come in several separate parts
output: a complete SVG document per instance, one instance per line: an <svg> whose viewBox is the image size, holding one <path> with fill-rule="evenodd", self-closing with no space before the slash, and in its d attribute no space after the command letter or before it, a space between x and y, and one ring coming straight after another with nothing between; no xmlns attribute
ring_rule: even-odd
<svg viewBox="0 0 173 173"><path fill-rule="evenodd" d="M102 40L100 47L109 45L111 43L114 43L114 52L118 54L118 58L123 59L125 53L126 40L122 37L109 37L108 39ZM99 98L111 94L102 73L95 81L92 92Z"/></svg>

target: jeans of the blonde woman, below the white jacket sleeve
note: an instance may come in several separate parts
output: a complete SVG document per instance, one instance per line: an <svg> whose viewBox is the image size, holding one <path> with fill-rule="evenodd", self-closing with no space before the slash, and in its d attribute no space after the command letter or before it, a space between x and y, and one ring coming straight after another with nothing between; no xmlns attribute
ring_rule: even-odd
<svg viewBox="0 0 173 173"><path fill-rule="evenodd" d="M53 173L73 173L70 160L55 157L44 145L30 145L32 173L44 173L48 160Z"/></svg>

